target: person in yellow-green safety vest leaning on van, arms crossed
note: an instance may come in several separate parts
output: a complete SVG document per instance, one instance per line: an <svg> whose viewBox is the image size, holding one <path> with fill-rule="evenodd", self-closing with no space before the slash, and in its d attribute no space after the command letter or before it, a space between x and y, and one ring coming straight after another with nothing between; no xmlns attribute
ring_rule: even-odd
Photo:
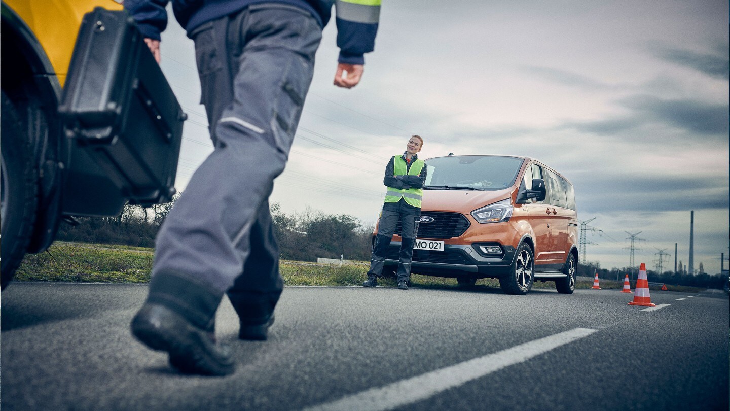
<svg viewBox="0 0 730 411"><path fill-rule="evenodd" d="M411 271L413 245L418 233L420 203L423 200L423 183L426 181L426 163L418 159L423 148L423 138L410 137L402 156L393 156L385 166L383 184L388 187L385 203L377 225L377 235L370 257L370 269L363 287L377 286L377 277L383 274L385 255L395 233L396 225L401 222L401 251L398 258L398 288L408 290Z"/></svg>

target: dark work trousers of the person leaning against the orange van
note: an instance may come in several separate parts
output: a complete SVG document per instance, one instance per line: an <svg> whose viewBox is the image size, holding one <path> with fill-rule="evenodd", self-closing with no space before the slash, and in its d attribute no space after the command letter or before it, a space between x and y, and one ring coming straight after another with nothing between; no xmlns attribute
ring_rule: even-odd
<svg viewBox="0 0 730 411"><path fill-rule="evenodd" d="M370 269L367 274L380 276L385 266L385 255L391 245L393 233L396 232L398 219L401 220L401 252L398 256L398 281L408 281L410 278L411 258L413 245L418 235L418 219L420 208L409 206L403 199L398 203L383 204L383 213L377 224L377 235L370 257Z"/></svg>

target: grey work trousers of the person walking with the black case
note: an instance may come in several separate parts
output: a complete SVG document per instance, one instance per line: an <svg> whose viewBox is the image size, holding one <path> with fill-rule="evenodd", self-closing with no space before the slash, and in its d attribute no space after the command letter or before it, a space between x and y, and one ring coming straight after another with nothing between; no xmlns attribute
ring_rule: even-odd
<svg viewBox="0 0 730 411"><path fill-rule="evenodd" d="M221 298L228 293L242 320L257 323L283 290L268 198L288 159L322 32L299 7L255 4L191 37L215 151L161 227L153 278L179 276Z"/></svg>

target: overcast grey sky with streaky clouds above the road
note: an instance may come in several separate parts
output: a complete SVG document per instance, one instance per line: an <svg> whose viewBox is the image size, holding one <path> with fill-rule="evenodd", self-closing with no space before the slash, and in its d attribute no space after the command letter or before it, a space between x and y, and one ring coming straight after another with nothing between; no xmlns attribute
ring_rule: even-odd
<svg viewBox="0 0 730 411"><path fill-rule="evenodd" d="M374 223L385 164L423 136L420 157L540 159L595 217L588 261L688 264L729 257L728 1L383 1L374 53L351 90L331 85L325 29L287 170L272 203ZM172 15L172 13L171 13ZM186 122L177 189L210 154L193 43L171 21L162 68ZM254 103L255 104L255 103ZM725 263L728 268L728 263Z"/></svg>

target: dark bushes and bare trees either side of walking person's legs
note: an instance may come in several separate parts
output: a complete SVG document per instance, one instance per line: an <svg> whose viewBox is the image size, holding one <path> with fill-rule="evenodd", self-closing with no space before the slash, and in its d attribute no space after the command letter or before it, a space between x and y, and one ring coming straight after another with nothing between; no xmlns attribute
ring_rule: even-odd
<svg viewBox="0 0 730 411"><path fill-rule="evenodd" d="M173 199L177 200L179 195ZM172 203L142 208L126 204L118 216L80 217L78 225L61 224L56 238L96 244L154 247L162 222ZM324 214L310 207L286 213L271 207L274 233L285 260L316 261L318 257L345 260L370 259L374 225L363 225L355 216Z"/></svg>

